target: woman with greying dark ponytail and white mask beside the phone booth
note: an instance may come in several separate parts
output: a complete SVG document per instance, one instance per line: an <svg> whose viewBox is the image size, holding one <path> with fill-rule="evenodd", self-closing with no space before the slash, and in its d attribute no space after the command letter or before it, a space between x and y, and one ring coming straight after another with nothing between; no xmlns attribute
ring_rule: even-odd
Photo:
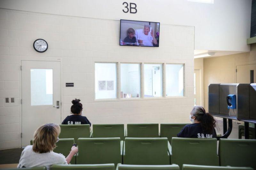
<svg viewBox="0 0 256 170"><path fill-rule="evenodd" d="M216 120L210 113L206 113L202 106L195 106L189 116L192 124L181 129L178 137L216 138Z"/></svg>

